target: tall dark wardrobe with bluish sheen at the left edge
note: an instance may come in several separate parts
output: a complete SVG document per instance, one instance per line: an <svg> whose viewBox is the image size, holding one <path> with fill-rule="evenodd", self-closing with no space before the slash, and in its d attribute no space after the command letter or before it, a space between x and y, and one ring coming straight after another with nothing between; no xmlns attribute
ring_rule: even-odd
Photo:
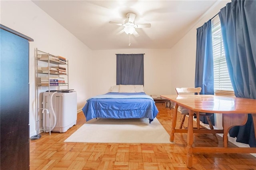
<svg viewBox="0 0 256 170"><path fill-rule="evenodd" d="M29 43L0 25L0 169L29 170Z"/></svg>

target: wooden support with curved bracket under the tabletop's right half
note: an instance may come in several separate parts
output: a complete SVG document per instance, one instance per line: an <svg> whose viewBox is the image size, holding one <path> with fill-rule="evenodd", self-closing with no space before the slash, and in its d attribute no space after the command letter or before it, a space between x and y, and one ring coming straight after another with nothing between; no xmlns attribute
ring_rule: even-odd
<svg viewBox="0 0 256 170"><path fill-rule="evenodd" d="M223 146L228 147L228 132L234 126L242 126L247 122L248 114L222 114Z"/></svg>

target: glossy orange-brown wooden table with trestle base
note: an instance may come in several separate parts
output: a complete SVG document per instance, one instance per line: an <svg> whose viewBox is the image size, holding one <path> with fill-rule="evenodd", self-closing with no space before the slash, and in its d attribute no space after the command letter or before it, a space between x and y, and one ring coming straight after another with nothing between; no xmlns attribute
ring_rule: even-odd
<svg viewBox="0 0 256 170"><path fill-rule="evenodd" d="M218 95L160 95L189 110L187 137L187 167L192 167L192 153L256 153L256 148L228 148L228 131L231 127L241 126L247 122L248 113L252 114L254 132L256 133L256 100ZM193 145L194 111L205 113L222 113L223 147L196 147ZM174 118L175 119L175 118ZM173 142L175 127L172 125L170 141ZM255 135L256 136L256 135Z"/></svg>

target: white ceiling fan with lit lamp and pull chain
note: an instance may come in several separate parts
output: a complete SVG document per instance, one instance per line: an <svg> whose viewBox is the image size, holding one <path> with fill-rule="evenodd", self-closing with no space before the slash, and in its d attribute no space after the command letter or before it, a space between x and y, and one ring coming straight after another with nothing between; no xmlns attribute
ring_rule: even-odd
<svg viewBox="0 0 256 170"><path fill-rule="evenodd" d="M151 24L134 24L134 20L136 17L136 14L134 14L134 13L129 12L126 14L126 17L128 19L126 19L124 21L124 24L112 22L112 21L110 21L109 23L115 24L118 26L123 26L124 29L121 31L121 33L125 32L126 34L129 35L129 42L130 42L130 35L134 34L134 36L138 36L138 32L136 32L135 28L150 28L151 27ZM129 45L130 45L130 43L129 43Z"/></svg>

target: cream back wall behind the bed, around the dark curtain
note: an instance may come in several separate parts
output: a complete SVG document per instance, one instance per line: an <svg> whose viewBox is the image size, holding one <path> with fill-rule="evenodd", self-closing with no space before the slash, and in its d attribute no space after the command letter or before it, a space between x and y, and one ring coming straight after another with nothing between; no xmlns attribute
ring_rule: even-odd
<svg viewBox="0 0 256 170"><path fill-rule="evenodd" d="M94 50L91 69L91 96L106 93L110 86L116 85L116 53L145 53L144 90L148 95L169 94L172 73L170 72L170 49L117 49Z"/></svg>

